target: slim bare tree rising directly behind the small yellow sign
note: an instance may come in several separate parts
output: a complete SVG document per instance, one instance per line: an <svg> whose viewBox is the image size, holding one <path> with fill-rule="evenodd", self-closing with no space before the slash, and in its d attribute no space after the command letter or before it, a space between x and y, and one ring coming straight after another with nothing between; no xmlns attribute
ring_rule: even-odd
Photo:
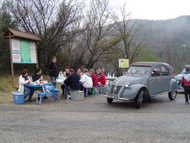
<svg viewBox="0 0 190 143"><path fill-rule="evenodd" d="M124 51L123 56L132 63L140 54L142 42L135 39L136 23L130 20L130 13L126 10L126 5L123 5L121 9L121 19L114 16L114 20L117 34L121 37L121 47Z"/></svg>

